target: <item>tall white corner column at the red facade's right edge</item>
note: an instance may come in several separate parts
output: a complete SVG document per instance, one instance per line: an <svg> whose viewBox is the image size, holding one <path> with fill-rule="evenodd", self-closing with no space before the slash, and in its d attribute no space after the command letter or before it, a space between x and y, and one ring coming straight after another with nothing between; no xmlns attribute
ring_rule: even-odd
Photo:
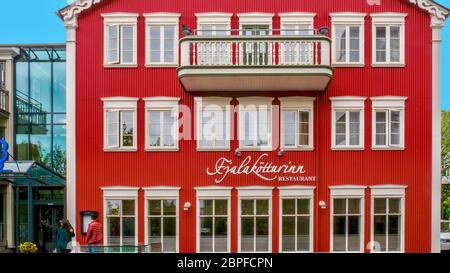
<svg viewBox="0 0 450 273"><path fill-rule="evenodd" d="M441 220L441 43L442 25L432 26L433 77L432 77L432 152L431 152L431 251L439 253Z"/></svg>

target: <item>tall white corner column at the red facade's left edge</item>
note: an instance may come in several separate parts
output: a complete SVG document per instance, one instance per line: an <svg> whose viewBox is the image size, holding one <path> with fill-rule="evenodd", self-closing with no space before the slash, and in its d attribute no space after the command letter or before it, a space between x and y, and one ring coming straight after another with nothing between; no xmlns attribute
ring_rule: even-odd
<svg viewBox="0 0 450 273"><path fill-rule="evenodd" d="M76 230L76 25L66 26L66 103L67 103L67 177L66 212L67 219Z"/></svg>

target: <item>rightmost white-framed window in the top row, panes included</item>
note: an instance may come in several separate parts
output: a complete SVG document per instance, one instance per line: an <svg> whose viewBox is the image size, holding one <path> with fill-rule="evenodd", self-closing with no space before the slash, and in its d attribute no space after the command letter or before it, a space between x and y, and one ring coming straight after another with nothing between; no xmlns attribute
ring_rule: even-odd
<svg viewBox="0 0 450 273"><path fill-rule="evenodd" d="M372 65L405 65L405 13L372 13Z"/></svg>

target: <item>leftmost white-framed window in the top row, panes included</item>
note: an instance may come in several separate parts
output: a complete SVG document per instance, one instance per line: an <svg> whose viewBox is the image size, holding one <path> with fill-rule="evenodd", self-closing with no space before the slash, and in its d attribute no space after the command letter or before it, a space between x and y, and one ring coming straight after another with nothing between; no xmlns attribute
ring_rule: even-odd
<svg viewBox="0 0 450 273"><path fill-rule="evenodd" d="M104 66L137 66L137 18L135 13L102 14Z"/></svg>

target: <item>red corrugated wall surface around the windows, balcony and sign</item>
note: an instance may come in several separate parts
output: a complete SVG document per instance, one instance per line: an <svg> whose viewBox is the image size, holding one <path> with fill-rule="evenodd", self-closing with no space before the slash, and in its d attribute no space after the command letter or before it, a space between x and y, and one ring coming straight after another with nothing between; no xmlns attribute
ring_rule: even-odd
<svg viewBox="0 0 450 273"><path fill-rule="evenodd" d="M103 152L102 97L111 96L176 96L180 103L193 109L194 95L183 91L175 68L145 68L145 24L138 22L138 68L103 67L103 20L107 12L179 12L180 26L196 28L196 12L233 13L232 28L238 28L236 14L240 12L316 12L315 27L331 27L331 12L404 12L406 18L406 67L372 68L372 27L370 16L365 24L365 67L335 68L333 80L325 92L285 92L282 96L317 95L315 103L314 151L290 152L283 157L277 151L269 153L275 163L288 161L304 164L308 175L318 181L307 185L317 187L315 195L314 250L329 250L330 211L318 209L318 201L329 204L331 185L403 184L406 189L405 250L429 252L431 249L431 29L429 15L408 1L382 1L381 6L369 6L364 0L113 0L105 1L79 18L77 30L77 214L82 210L102 213L102 186L181 186L180 206L186 201L193 207L180 209L180 251L195 251L195 190L196 186L212 186L206 168L220 157L238 160L233 152L197 152L195 141L181 141L179 152L144 151L144 102L138 102L138 151ZM275 15L274 28L279 28ZM215 94L223 95L223 94ZM235 93L230 94L236 95ZM247 92L245 95L280 96L275 92ZM404 151L372 151L371 104L365 104L365 150L331 151L331 96L406 96ZM236 103L236 101L234 101ZM277 102L275 102L277 103ZM193 125L192 125L193 126ZM192 127L193 130L193 127ZM236 130L235 130L236 132ZM236 136L236 133L235 133ZM238 147L232 141L231 150ZM245 152L245 155L261 152ZM242 160L242 158L240 159ZM287 185L286 182L281 182ZM302 184L306 183L292 183ZM255 176L233 177L224 186L272 185ZM277 211L278 193L274 191L273 210ZM365 236L370 239L370 191L366 191ZM139 242L144 241L143 193L139 195ZM237 251L237 192L232 193L232 251ZM100 214L100 219L102 219ZM78 226L80 224L78 219ZM273 217L272 245L278 251L278 217ZM80 237L81 234L78 234ZM83 237L81 237L83 238ZM84 240L84 239L83 239Z"/></svg>

